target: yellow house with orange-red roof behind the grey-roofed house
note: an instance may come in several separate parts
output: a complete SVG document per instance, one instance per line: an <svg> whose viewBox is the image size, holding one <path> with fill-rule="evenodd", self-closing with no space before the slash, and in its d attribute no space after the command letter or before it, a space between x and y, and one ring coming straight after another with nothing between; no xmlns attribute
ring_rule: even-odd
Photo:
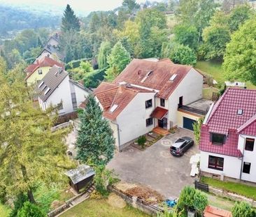
<svg viewBox="0 0 256 217"><path fill-rule="evenodd" d="M37 60L35 63L29 65L25 72L27 73L27 77L25 78L28 85L38 83L42 80L42 78L48 73L52 66L59 66L64 69L64 64L51 59L50 57L43 57L40 60Z"/></svg>

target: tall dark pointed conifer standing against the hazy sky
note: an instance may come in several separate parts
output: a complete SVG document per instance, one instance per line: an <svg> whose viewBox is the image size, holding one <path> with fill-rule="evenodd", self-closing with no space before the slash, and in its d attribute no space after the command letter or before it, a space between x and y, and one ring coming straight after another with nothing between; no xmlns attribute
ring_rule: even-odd
<svg viewBox="0 0 256 217"><path fill-rule="evenodd" d="M66 5L66 10L64 11L64 16L62 17L62 31L80 30L80 24L78 17L76 17L72 8L69 4Z"/></svg>

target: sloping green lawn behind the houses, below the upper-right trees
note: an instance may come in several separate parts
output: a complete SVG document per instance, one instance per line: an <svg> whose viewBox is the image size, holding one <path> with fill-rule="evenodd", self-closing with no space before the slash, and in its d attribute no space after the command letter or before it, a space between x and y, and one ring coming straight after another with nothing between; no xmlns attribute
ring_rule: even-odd
<svg viewBox="0 0 256 217"><path fill-rule="evenodd" d="M220 62L217 61L197 61L195 68L199 69L201 73L211 75L217 82L225 82L225 75L222 70ZM248 89L256 89L256 86L251 82L246 82Z"/></svg>

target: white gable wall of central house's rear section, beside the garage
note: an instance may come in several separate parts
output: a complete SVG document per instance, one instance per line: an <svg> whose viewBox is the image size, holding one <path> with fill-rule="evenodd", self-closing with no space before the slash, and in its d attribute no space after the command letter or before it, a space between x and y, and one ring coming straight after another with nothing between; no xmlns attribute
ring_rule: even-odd
<svg viewBox="0 0 256 217"><path fill-rule="evenodd" d="M194 68L184 77L178 84L178 87L173 91L168 100L169 117L168 122L172 121L173 126L178 125L178 103L180 96L183 96L183 105L197 101L203 96L203 75L198 73ZM170 123L168 123L170 124ZM170 126L168 125L168 128Z"/></svg>

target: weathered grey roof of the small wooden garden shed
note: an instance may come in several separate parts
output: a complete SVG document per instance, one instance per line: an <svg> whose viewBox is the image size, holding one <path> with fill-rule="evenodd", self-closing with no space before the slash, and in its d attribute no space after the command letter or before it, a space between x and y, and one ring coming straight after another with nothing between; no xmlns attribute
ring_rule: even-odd
<svg viewBox="0 0 256 217"><path fill-rule="evenodd" d="M92 167L88 165L80 165L76 169L69 170L68 172L65 172L66 176L71 179L73 184L78 184L78 182L83 181L89 177L92 177L95 172L92 169Z"/></svg>

